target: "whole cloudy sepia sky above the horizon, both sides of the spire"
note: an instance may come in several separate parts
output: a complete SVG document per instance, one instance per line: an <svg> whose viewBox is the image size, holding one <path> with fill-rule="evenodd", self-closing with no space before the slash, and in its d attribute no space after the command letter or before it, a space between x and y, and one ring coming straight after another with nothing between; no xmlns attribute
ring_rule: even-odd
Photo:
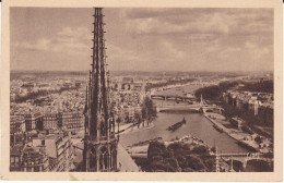
<svg viewBox="0 0 284 183"><path fill-rule="evenodd" d="M93 9L11 9L11 70L90 69ZM272 71L272 9L104 9L110 70Z"/></svg>

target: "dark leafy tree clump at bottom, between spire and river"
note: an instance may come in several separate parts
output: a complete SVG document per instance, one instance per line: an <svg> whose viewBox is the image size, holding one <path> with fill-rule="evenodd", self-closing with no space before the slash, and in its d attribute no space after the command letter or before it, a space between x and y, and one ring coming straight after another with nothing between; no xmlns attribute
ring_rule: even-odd
<svg viewBox="0 0 284 183"><path fill-rule="evenodd" d="M193 146L194 150L191 150ZM174 143L165 146L162 142L151 142L147 149L147 171L188 172L214 171L214 158L209 148L198 144Z"/></svg>

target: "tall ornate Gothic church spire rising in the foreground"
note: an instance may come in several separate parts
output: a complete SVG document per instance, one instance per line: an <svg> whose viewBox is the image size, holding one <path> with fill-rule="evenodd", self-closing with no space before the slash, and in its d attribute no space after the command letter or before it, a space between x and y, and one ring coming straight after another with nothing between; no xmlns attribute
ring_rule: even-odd
<svg viewBox="0 0 284 183"><path fill-rule="evenodd" d="M86 87L83 171L116 171L117 139L106 72L103 9L94 9L92 70Z"/></svg>

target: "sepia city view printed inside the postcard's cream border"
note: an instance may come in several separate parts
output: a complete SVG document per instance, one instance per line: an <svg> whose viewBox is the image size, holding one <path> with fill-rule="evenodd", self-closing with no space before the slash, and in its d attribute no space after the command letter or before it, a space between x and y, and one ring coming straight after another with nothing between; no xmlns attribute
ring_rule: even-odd
<svg viewBox="0 0 284 183"><path fill-rule="evenodd" d="M275 172L274 11L10 7L9 172Z"/></svg>

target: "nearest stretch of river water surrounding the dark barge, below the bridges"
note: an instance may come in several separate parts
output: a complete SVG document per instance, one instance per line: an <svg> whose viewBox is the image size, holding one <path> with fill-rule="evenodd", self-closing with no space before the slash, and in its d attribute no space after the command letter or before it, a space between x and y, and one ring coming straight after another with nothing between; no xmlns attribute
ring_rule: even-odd
<svg viewBox="0 0 284 183"><path fill-rule="evenodd" d="M175 132L167 131L169 125L173 125L184 119L187 120L186 125ZM130 132L120 136L120 143L127 147L138 142L162 137L164 141L169 141L175 137L182 137L192 134L210 146L217 146L222 152L247 152L248 150L238 146L237 142L230 138L225 133L217 132L213 124L200 113L157 113L157 119L154 121L154 127Z"/></svg>

